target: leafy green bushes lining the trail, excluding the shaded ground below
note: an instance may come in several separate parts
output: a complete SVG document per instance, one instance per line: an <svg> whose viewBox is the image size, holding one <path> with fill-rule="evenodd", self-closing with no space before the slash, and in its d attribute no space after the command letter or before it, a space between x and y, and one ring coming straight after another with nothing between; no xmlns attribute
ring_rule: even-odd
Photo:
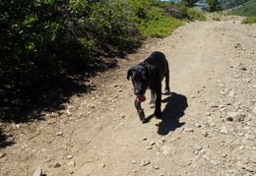
<svg viewBox="0 0 256 176"><path fill-rule="evenodd" d="M166 36L182 25L168 13L173 6L160 0L2 0L0 81L34 85L63 73L63 65L88 69L98 55L132 48L141 33ZM201 19L186 7L178 11Z"/></svg>

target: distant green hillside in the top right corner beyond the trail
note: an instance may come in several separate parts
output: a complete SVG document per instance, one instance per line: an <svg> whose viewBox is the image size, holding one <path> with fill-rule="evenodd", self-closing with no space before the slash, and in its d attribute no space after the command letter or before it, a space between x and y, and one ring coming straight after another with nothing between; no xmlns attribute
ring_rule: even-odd
<svg viewBox="0 0 256 176"><path fill-rule="evenodd" d="M245 17L255 17L256 16L256 0L251 0L243 4L242 6L234 9L230 14Z"/></svg>

